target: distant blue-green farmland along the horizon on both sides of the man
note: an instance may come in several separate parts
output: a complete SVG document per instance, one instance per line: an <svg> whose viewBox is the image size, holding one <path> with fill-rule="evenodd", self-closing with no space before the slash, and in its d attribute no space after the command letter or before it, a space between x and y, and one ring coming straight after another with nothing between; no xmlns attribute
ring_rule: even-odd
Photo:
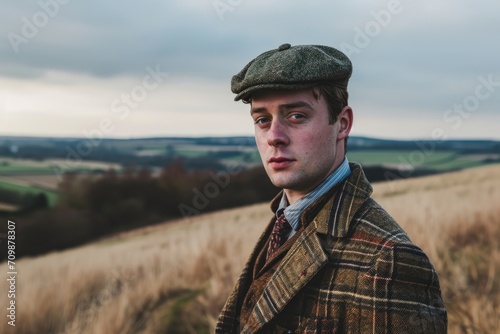
<svg viewBox="0 0 500 334"><path fill-rule="evenodd" d="M44 194L49 206L54 206L58 183L66 172L100 174L133 166L157 174L175 159L183 159L191 170L261 165L252 137L107 139L97 146L85 146L89 143L85 139L0 137L0 191ZM407 177L500 162L500 143L353 137L347 156L364 166L392 169ZM16 203L5 197L0 200L4 211L12 211Z"/></svg>

